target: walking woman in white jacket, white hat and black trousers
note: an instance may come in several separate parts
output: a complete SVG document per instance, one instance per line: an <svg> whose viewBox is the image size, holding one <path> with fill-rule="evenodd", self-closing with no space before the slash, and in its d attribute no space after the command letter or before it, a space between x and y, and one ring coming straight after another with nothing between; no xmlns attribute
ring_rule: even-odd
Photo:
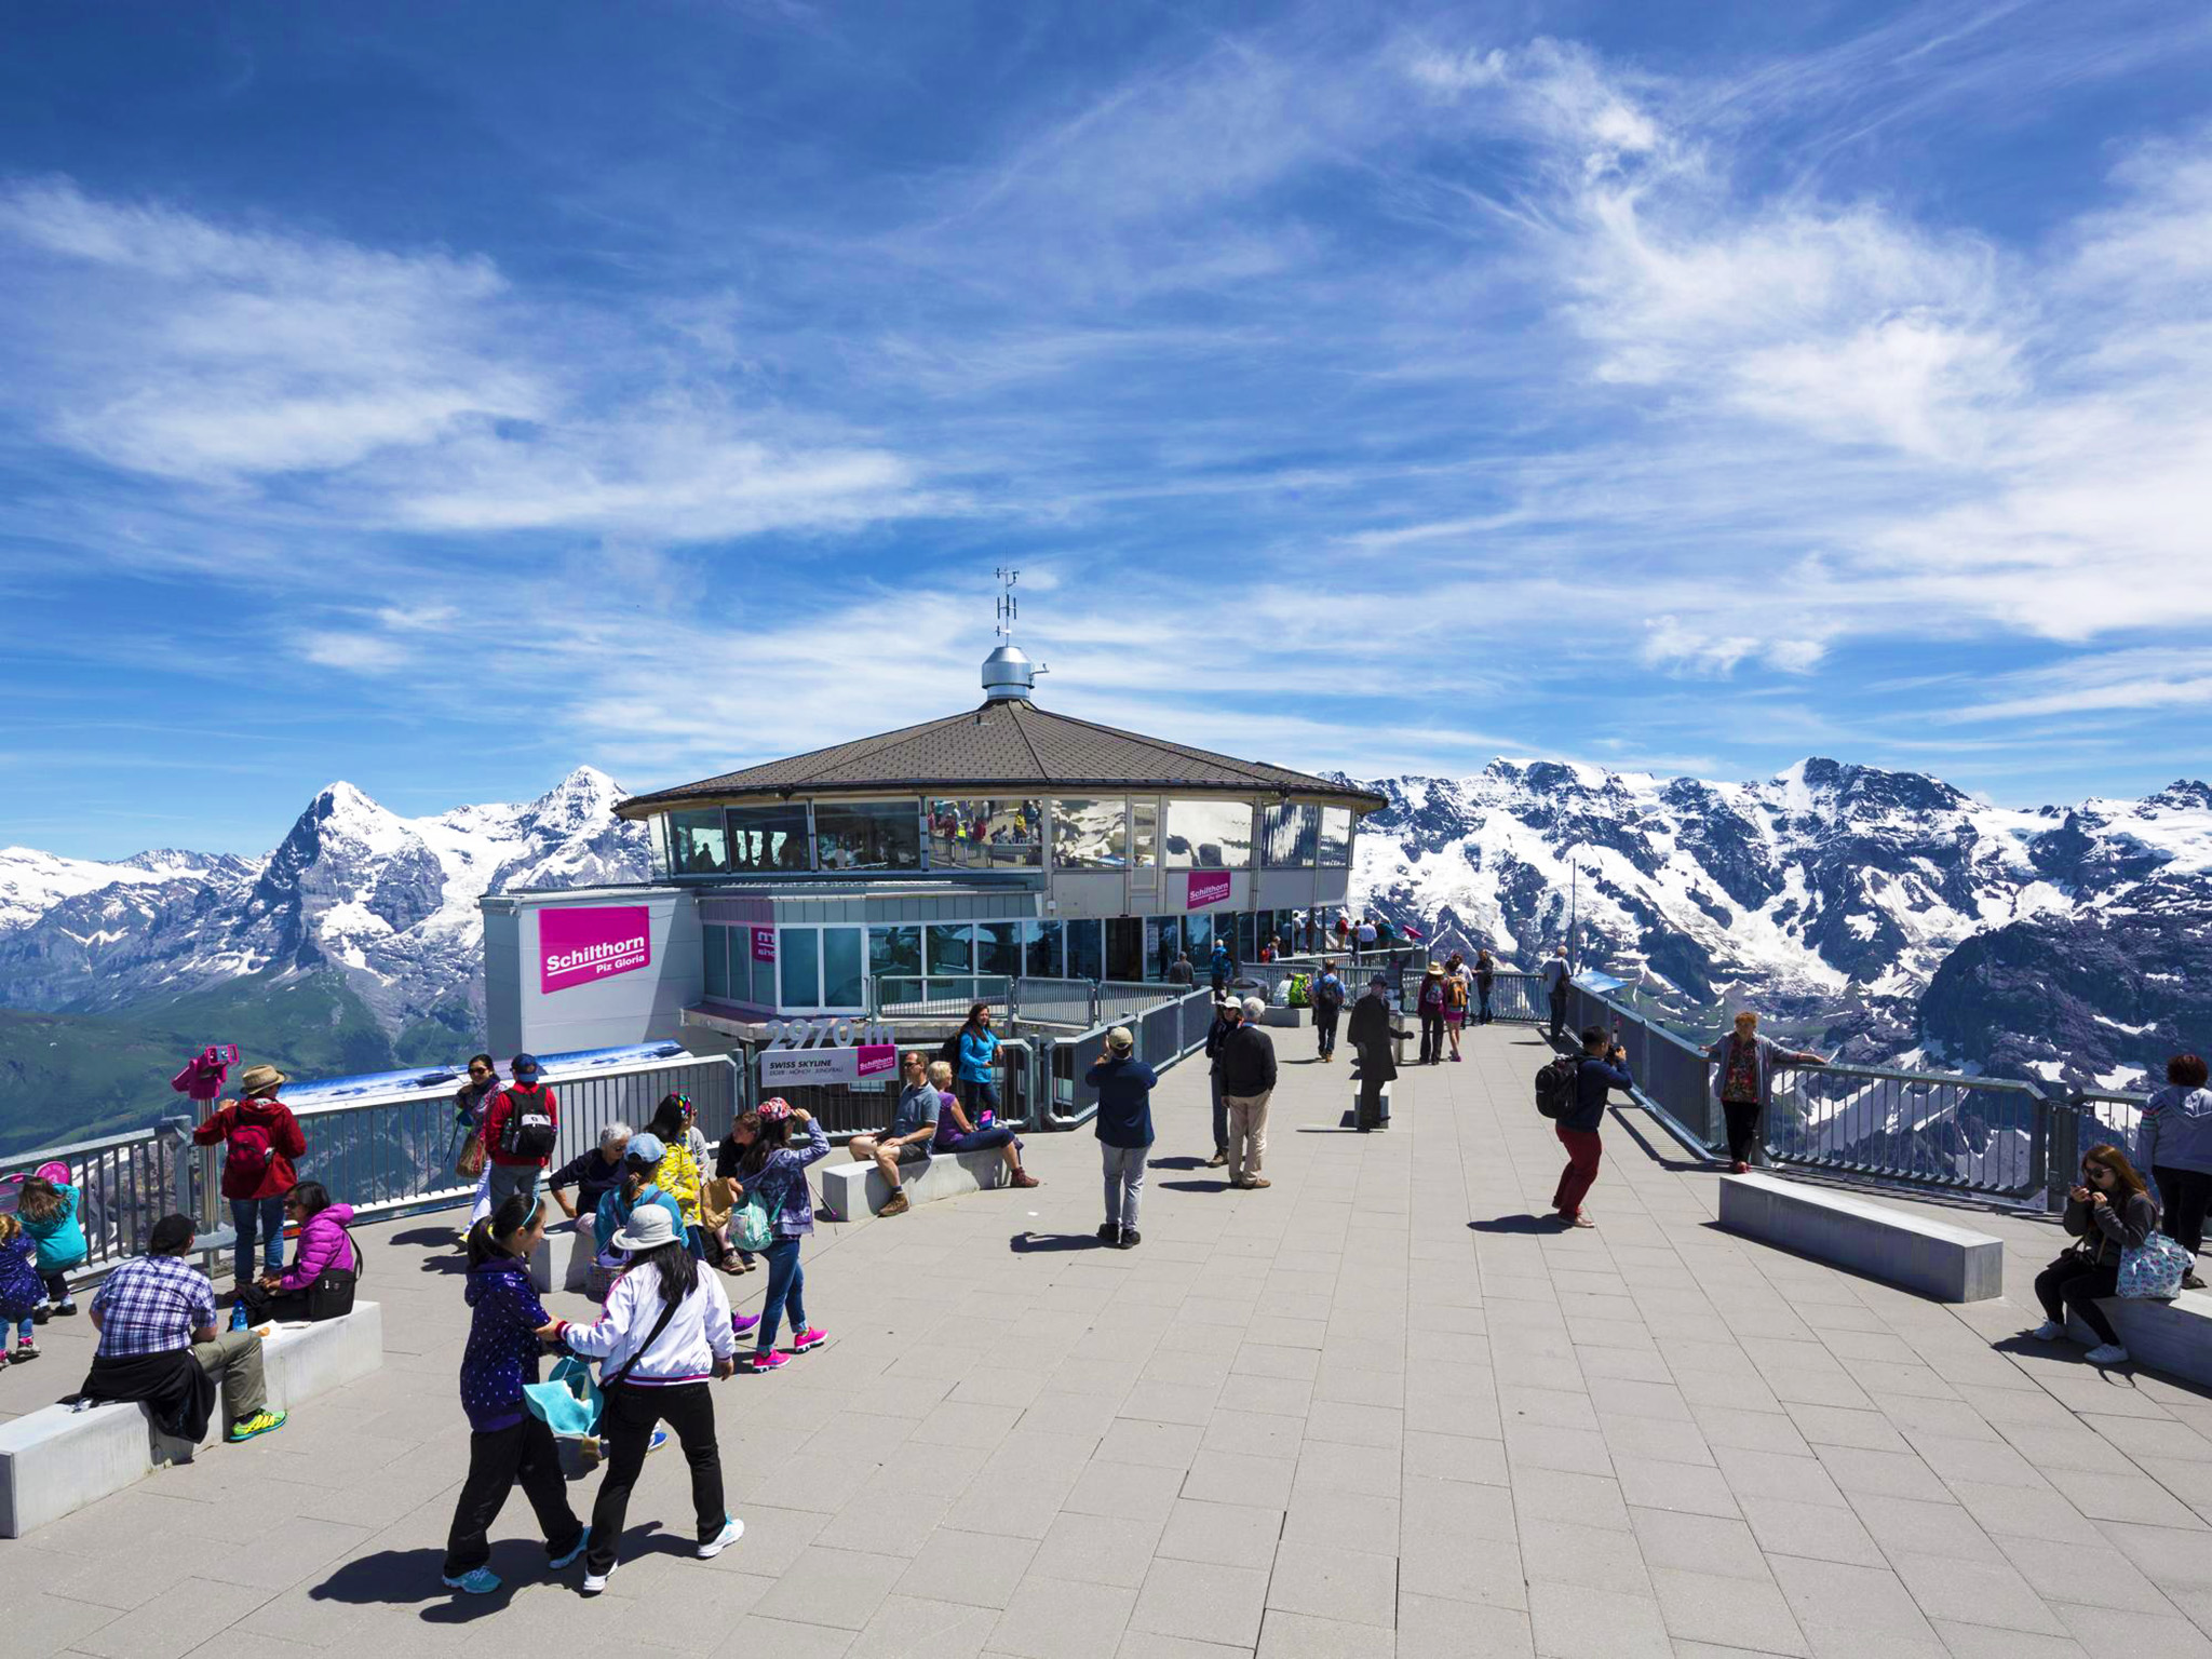
<svg viewBox="0 0 2212 1659"><path fill-rule="evenodd" d="M633 1214L615 1234L615 1248L628 1252L630 1270L608 1292L606 1312L595 1325L560 1332L568 1349L599 1360L606 1398L599 1413L606 1473L591 1506L584 1595L599 1595L615 1571L630 1489L661 1422L675 1429L692 1471L697 1557L721 1555L745 1531L723 1502L714 1396L708 1391L708 1378L726 1378L737 1365L721 1279L699 1272L699 1259L659 1206Z"/></svg>

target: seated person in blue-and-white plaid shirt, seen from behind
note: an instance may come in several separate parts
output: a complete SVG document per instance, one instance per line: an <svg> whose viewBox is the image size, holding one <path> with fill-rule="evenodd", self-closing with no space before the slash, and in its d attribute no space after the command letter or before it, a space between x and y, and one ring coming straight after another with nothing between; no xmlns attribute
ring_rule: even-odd
<svg viewBox="0 0 2212 1659"><path fill-rule="evenodd" d="M215 1329L215 1285L186 1261L192 1219L153 1223L146 1254L115 1267L93 1294L100 1349L80 1400L142 1400L164 1433L199 1444L215 1416L221 1378L226 1438L272 1433L285 1425L261 1383L261 1336Z"/></svg>

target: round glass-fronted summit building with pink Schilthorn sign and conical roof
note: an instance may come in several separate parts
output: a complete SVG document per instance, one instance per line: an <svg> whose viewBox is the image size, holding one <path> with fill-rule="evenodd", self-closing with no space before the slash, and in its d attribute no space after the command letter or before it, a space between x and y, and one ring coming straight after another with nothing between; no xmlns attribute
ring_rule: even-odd
<svg viewBox="0 0 2212 1659"><path fill-rule="evenodd" d="M484 898L493 1051L1203 978L1345 902L1383 796L1042 710L1000 633L980 708L619 803L648 885Z"/></svg>

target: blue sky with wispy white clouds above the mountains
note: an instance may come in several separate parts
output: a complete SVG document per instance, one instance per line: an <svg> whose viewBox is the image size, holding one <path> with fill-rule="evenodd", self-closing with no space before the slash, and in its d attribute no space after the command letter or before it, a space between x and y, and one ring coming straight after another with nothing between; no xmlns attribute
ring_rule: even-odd
<svg viewBox="0 0 2212 1659"><path fill-rule="evenodd" d="M975 697L1358 774L2212 772L2212 13L42 7L0 843Z"/></svg>

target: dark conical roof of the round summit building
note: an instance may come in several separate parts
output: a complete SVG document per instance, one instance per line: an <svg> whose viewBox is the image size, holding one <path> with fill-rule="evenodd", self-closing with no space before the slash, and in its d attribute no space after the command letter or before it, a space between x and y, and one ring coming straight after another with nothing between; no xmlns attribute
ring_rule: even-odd
<svg viewBox="0 0 2212 1659"><path fill-rule="evenodd" d="M1057 792L1082 790L1199 790L1323 794L1363 812L1387 805L1380 794L1292 772L1261 761L1237 761L1188 743L1139 737L1113 726L1048 714L1035 703L1004 699L964 714L860 737L787 761L748 765L714 779L681 783L624 801L624 818L686 803L792 794L958 794L962 790Z"/></svg>

